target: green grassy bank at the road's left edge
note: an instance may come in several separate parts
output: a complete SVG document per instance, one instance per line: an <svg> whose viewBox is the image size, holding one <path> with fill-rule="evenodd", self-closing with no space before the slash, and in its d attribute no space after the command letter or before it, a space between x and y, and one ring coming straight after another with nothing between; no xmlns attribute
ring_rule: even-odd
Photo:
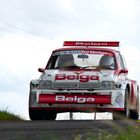
<svg viewBox="0 0 140 140"><path fill-rule="evenodd" d="M0 121L20 121L23 120L19 115L8 112L7 110L0 110Z"/></svg>

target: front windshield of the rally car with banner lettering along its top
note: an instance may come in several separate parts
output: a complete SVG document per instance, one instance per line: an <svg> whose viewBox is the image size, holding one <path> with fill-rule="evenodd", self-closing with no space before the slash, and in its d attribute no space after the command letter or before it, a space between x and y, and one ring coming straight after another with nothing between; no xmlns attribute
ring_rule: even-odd
<svg viewBox="0 0 140 140"><path fill-rule="evenodd" d="M115 69L114 55L105 51L57 51L48 62L48 69Z"/></svg>

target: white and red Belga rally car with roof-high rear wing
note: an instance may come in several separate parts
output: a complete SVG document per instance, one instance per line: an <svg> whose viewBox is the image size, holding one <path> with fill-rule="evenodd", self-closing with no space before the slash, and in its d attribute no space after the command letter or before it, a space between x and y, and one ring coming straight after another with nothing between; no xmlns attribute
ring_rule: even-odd
<svg viewBox="0 0 140 140"><path fill-rule="evenodd" d="M119 42L65 41L41 76L30 83L31 120L55 120L61 112L112 112L139 118L139 87L128 78Z"/></svg>

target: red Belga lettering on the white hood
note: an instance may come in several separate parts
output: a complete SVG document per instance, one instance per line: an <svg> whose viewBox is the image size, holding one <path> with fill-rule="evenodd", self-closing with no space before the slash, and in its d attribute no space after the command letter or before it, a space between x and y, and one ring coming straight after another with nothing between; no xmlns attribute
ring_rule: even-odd
<svg viewBox="0 0 140 140"><path fill-rule="evenodd" d="M96 75L66 75L56 74L55 80L78 80L80 82L89 82L90 80L99 80L99 76Z"/></svg>

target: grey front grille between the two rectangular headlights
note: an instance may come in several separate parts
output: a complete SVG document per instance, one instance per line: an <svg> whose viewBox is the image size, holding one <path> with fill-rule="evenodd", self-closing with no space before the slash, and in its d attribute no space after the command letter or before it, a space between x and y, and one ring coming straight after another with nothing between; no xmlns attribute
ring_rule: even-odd
<svg viewBox="0 0 140 140"><path fill-rule="evenodd" d="M100 83L54 83L54 89L99 89Z"/></svg>

